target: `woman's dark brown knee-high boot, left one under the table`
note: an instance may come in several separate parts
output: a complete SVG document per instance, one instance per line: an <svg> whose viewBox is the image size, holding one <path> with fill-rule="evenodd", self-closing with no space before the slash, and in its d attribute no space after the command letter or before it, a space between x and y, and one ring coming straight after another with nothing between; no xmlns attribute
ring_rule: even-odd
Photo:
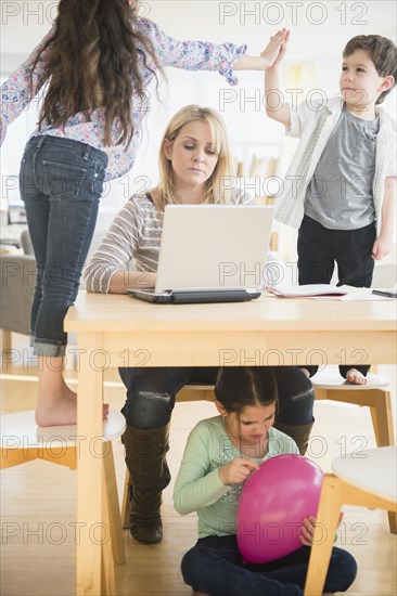
<svg viewBox="0 0 397 596"><path fill-rule="evenodd" d="M123 435L130 474L130 532L143 544L163 539L162 491L171 479L166 461L168 435L169 425L153 430L127 426Z"/></svg>

